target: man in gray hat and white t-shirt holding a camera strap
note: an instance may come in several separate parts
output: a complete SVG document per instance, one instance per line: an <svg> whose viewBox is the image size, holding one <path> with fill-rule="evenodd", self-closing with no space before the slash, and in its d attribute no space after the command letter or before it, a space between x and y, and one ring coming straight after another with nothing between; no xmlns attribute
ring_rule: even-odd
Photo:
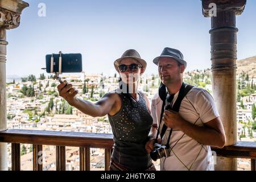
<svg viewBox="0 0 256 182"><path fill-rule="evenodd" d="M182 53L173 48L164 48L162 54L153 62L158 65L160 79L166 86L166 106L173 106L183 85L187 62L183 60ZM179 113L163 110L161 122L162 105L163 101L156 94L151 106L155 127L152 127L151 140L145 146L148 153L154 150L156 124L160 124L159 136L162 133L163 138L158 139L162 140L162 145L167 144L171 131L170 148L166 150L170 152L170 156L160 158L160 169L214 170L210 146L222 148L226 139L212 96L206 90L193 86L181 101ZM166 131L162 131L164 125Z"/></svg>

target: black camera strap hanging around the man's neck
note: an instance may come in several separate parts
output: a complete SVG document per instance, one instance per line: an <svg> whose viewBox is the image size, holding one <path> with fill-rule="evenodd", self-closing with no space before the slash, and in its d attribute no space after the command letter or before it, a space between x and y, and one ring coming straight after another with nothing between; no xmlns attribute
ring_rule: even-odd
<svg viewBox="0 0 256 182"><path fill-rule="evenodd" d="M163 90L163 85L160 85L160 87L162 87L162 88L159 88L159 94L160 94L160 89ZM181 101L187 95L189 90L191 90L192 88L193 88L192 85L185 86L185 83L183 82L182 85L181 85L181 88L180 88L180 91L179 91L179 96L177 97L176 102L174 103L173 106L169 106L166 109L171 109L171 110L176 111L177 113L179 113ZM156 141L158 139L158 135L159 135L159 131L160 131L160 123L162 122L163 113L164 113L165 106L166 106L166 97L167 97L167 94L165 94L165 96L163 96L163 94L162 94L162 96L160 97L161 100L163 101L163 105L162 105L162 110L161 110L161 114L160 114L160 122L159 122L159 126L158 126L158 133L156 134ZM171 102L171 101L168 101L168 102ZM162 128L162 131L161 131L161 134L160 134L161 139L163 138L164 133L166 133L166 130L167 130L167 126L165 124L163 124L163 128ZM171 134L172 134L172 129L170 130L170 134L169 134L169 137L168 137L168 140L167 140L167 144L166 144L167 148L169 147Z"/></svg>

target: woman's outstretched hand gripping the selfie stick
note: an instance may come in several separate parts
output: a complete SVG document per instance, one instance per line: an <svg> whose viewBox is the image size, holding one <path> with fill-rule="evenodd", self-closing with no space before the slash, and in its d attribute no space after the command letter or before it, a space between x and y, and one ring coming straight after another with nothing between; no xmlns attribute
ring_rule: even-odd
<svg viewBox="0 0 256 182"><path fill-rule="evenodd" d="M63 81L57 86L57 89L59 91L59 95L63 97L68 104L72 105L72 102L75 101L76 94L78 93L78 91L73 88L73 85L68 84L67 81Z"/></svg>

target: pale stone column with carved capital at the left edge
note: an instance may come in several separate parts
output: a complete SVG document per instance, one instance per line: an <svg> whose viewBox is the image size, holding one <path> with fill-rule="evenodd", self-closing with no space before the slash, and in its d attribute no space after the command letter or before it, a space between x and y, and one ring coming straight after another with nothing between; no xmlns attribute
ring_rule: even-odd
<svg viewBox="0 0 256 182"><path fill-rule="evenodd" d="M16 28L28 6L21 0L0 1L0 131L6 130L6 30ZM0 143L0 171L7 170L7 143Z"/></svg>

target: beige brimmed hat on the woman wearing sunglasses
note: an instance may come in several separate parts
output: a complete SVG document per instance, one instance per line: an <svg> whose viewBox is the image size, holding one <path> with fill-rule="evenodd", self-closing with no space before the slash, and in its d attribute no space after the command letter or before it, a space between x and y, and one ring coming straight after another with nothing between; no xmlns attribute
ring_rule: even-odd
<svg viewBox="0 0 256 182"><path fill-rule="evenodd" d="M114 61L114 67L117 70L117 72L119 72L118 65L119 65L120 61L125 58L133 58L133 59L137 60L139 62L139 64L141 64L141 66L144 68L144 70L147 67L147 62L145 60L141 59L141 56L139 55L139 53L134 49L129 49L123 53L122 57L120 57L119 59Z"/></svg>

